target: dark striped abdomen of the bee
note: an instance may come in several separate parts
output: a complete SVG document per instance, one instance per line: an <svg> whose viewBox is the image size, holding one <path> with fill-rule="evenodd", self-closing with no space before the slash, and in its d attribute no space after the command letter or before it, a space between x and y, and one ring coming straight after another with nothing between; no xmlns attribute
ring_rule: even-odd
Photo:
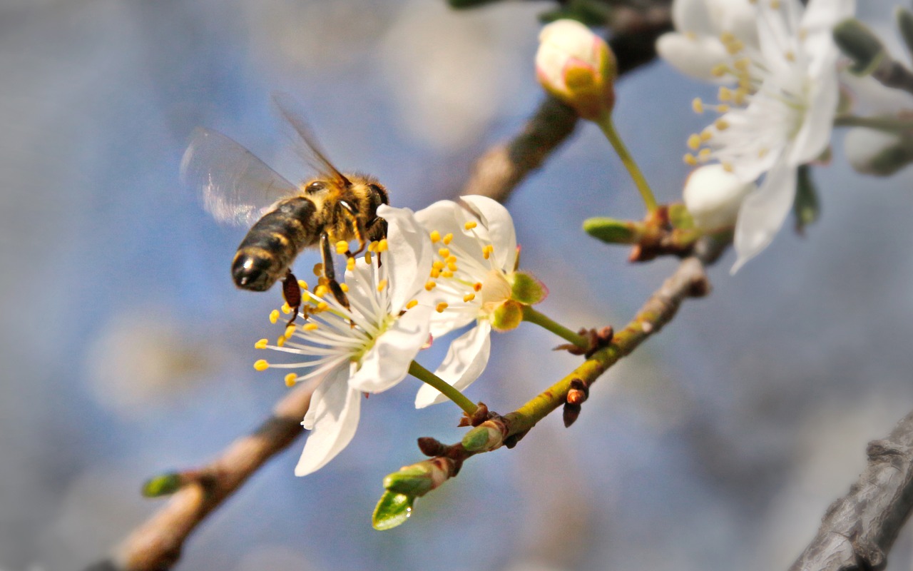
<svg viewBox="0 0 913 571"><path fill-rule="evenodd" d="M231 275L239 288L267 291L285 276L303 248L320 239L317 207L304 196L288 198L250 228L237 247Z"/></svg>

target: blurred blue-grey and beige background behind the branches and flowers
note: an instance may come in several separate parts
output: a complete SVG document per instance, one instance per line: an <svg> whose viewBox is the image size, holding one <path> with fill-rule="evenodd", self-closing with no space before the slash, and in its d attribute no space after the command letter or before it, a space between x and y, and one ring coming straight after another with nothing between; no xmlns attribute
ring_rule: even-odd
<svg viewBox="0 0 913 571"><path fill-rule="evenodd" d="M861 14L887 29L894 3ZM288 91L342 170L394 205L453 196L479 153L542 99L532 60L547 2L467 12L443 0L5 0L0 5L0 569L75 569L161 506L147 477L210 460L287 390L257 373L279 292L238 291L244 230L218 227L178 181L197 125L280 173L270 94ZM880 23L880 24L879 24ZM660 200L713 89L662 62L625 76L616 123ZM411 521L371 527L383 475L415 438L459 438L448 404L416 411L407 379L362 407L352 444L295 478L303 439L197 531L181 568L778 569L913 408L913 183L834 161L823 217L783 231L593 387L571 428L546 418L516 449L467 462ZM581 125L507 205L523 265L574 328L624 324L675 268L629 266L579 229L640 217L634 186ZM308 274L310 252L298 268ZM493 341L468 396L519 406L577 359L524 325ZM442 344L439 344L442 345ZM423 357L436 364L436 354ZM910 568L911 534L891 569Z"/></svg>

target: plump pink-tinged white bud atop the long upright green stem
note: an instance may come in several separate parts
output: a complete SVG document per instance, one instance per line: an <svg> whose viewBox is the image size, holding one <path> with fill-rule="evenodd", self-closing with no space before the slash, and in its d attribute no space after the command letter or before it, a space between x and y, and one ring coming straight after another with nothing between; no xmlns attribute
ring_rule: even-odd
<svg viewBox="0 0 913 571"><path fill-rule="evenodd" d="M536 77L551 95L595 121L612 112L617 65L602 37L574 20L542 27L536 52Z"/></svg>

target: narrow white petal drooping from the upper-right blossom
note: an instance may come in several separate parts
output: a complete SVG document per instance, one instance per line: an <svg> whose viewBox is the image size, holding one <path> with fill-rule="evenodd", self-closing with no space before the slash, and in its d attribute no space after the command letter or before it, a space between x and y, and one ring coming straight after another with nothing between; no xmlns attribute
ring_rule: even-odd
<svg viewBox="0 0 913 571"><path fill-rule="evenodd" d="M795 194L796 168L781 158L764 177L761 187L742 202L734 238L739 258L730 274L767 248L789 214Z"/></svg>

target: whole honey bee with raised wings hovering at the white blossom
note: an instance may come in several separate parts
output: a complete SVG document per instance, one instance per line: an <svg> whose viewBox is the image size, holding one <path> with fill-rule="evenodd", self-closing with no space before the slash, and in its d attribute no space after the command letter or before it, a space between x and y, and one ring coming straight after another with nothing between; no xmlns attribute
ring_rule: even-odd
<svg viewBox="0 0 913 571"><path fill-rule="evenodd" d="M320 248L321 282L342 306L349 301L333 265L340 242L348 258L373 240L386 236L387 224L377 207L390 204L386 189L367 174L342 174L327 159L306 122L291 111L288 98L274 96L279 113L299 141L299 152L317 176L294 185L239 143L219 132L197 127L181 162L184 183L195 187L203 206L218 222L253 225L241 240L231 274L237 287L267 291L282 280L282 294L294 323L301 305L292 262L305 248Z"/></svg>

